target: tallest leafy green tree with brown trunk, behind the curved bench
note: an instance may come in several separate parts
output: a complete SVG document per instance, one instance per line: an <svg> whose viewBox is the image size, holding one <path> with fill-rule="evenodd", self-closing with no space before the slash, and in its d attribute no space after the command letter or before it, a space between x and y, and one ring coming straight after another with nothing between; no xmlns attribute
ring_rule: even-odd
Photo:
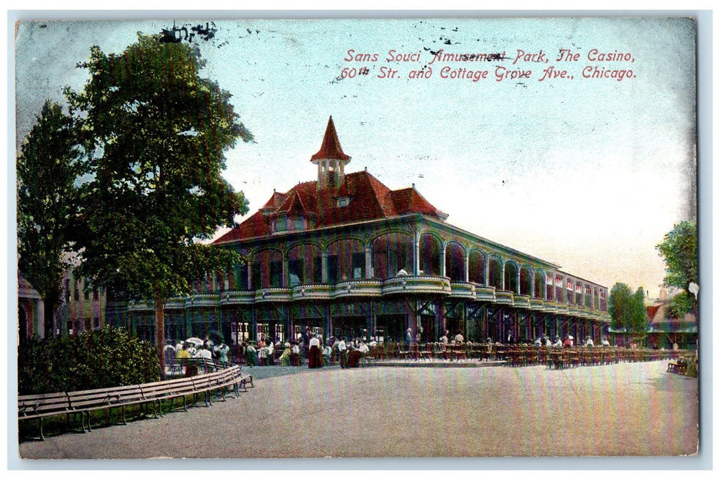
<svg viewBox="0 0 720 480"><path fill-rule="evenodd" d="M66 89L92 159L82 187L81 273L148 299L164 371L164 307L238 256L205 245L247 201L222 178L225 152L252 135L230 94L200 78L199 50L138 34L120 55L91 48L83 91Z"/></svg>

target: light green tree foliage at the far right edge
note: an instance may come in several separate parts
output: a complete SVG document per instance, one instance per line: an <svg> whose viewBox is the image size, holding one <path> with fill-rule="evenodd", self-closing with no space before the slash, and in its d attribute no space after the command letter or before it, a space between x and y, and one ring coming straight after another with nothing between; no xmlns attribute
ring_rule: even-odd
<svg viewBox="0 0 720 480"><path fill-rule="evenodd" d="M698 230L695 222L676 224L655 248L665 260L665 286L687 291L690 282L698 283Z"/></svg>

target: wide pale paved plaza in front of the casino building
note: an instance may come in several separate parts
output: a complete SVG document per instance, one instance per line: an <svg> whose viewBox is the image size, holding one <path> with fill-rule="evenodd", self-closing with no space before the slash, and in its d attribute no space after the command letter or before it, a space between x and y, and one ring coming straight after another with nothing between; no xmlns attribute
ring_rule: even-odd
<svg viewBox="0 0 720 480"><path fill-rule="evenodd" d="M296 368L210 408L24 442L19 451L22 458L693 454L698 382L665 368L667 361L561 371Z"/></svg>

